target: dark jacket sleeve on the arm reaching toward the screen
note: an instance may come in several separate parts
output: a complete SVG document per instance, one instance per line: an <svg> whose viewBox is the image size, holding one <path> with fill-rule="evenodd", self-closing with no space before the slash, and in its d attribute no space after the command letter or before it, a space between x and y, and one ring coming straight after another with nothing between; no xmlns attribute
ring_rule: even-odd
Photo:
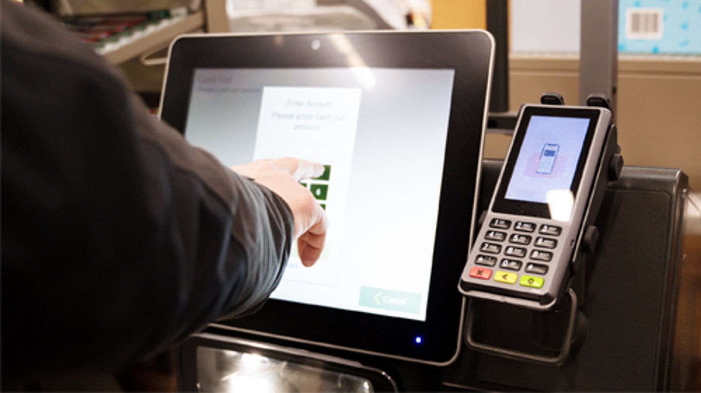
<svg viewBox="0 0 701 393"><path fill-rule="evenodd" d="M280 280L294 222L147 114L45 15L2 3L2 375L109 371Z"/></svg>

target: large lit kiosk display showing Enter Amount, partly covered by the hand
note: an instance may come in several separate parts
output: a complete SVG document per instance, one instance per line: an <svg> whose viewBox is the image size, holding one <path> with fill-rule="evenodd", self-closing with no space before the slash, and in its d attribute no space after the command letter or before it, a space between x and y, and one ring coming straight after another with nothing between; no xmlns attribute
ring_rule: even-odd
<svg viewBox="0 0 701 393"><path fill-rule="evenodd" d="M186 138L227 165L299 157L330 220L272 297L426 320L454 71L196 69Z"/></svg>

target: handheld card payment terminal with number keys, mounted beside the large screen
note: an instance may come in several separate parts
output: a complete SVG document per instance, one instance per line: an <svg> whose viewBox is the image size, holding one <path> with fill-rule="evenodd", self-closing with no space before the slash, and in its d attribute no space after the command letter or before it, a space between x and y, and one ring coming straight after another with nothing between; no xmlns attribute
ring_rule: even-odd
<svg viewBox="0 0 701 393"><path fill-rule="evenodd" d="M606 108L526 105L459 288L549 310L564 291L604 154Z"/></svg>

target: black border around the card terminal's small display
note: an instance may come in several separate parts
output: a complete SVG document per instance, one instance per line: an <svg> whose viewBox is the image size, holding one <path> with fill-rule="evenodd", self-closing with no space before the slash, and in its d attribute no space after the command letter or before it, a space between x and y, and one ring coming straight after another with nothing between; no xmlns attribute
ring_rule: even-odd
<svg viewBox="0 0 701 393"><path fill-rule="evenodd" d="M521 152L521 146L523 144L524 139L526 138L526 134L528 132L533 132L529 131L529 125L531 124L531 118L533 116L566 117L590 120L589 126L587 127L587 134L585 135L584 142L582 144L582 149L580 150L576 171L574 173L572 183L570 185L570 191L572 192L573 197L576 198L577 191L579 190L579 186L582 180L584 166L587 163L587 157L589 157L589 151L592 146L594 131L596 131L597 124L599 122L599 115L600 112L598 110L587 110L585 108L573 109L543 106L526 106L526 108L524 108L524 113L522 114L521 120L518 124L517 132L515 133L514 141L512 142L511 150L509 152L507 162L505 163L503 174L501 176L501 182L499 183L491 210L495 211L496 213L528 215L531 217L541 217L547 219L552 218L552 216L550 215L550 208L547 206L547 203L522 201L518 199L507 199L505 197L509 184L511 183L511 177L514 173L516 161L519 157L519 154L516 153Z"/></svg>

